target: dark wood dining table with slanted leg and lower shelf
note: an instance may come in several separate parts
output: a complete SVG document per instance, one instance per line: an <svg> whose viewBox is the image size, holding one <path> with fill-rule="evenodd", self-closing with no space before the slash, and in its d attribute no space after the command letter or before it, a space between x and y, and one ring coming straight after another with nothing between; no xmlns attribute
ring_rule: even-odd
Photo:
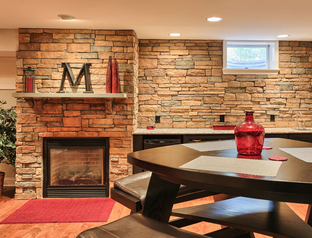
<svg viewBox="0 0 312 238"><path fill-rule="evenodd" d="M278 148L312 147L311 143L267 138L260 156L241 156L236 149L200 152L182 145L164 146L128 154L128 162L152 171L143 215L168 223L171 215L231 226L273 237L312 237L312 163ZM276 177L179 168L199 156L269 160L284 156ZM312 155L309 155L312 156ZM200 206L174 209L180 185L237 196ZM309 204L306 220L285 202Z"/></svg>

